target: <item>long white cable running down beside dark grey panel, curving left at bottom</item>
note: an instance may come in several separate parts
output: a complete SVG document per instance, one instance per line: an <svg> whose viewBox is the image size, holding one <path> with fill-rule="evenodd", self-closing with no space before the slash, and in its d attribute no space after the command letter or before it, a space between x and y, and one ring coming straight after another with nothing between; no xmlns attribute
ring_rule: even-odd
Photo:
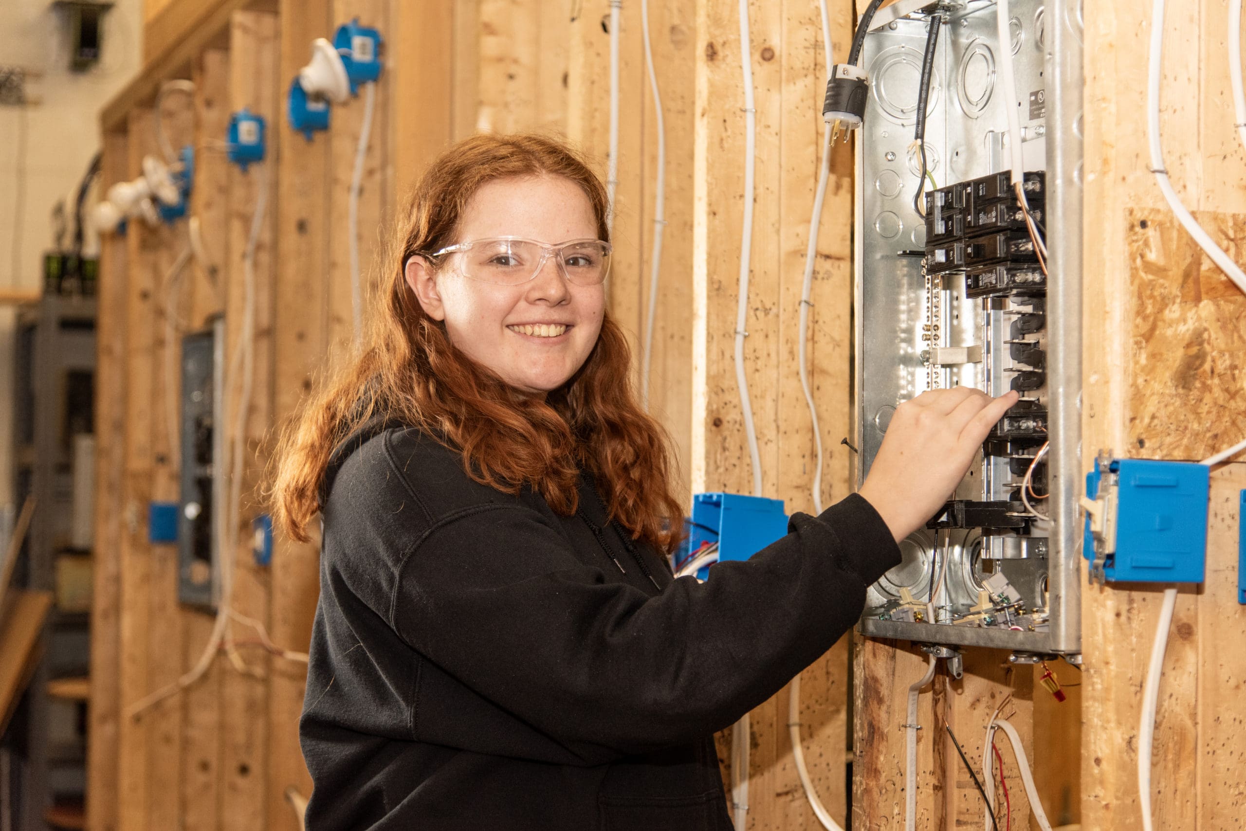
<svg viewBox="0 0 1246 831"><path fill-rule="evenodd" d="M268 167L260 164L257 182L258 193L255 196L255 211L250 218L250 233L247 237L247 248L243 252L243 314L242 326L238 333L238 345L229 359L226 370L226 390L232 390L242 374L242 389L238 395L238 407L235 411L235 424L233 434L233 455L229 471L229 500L227 506L216 512L217 537L219 539L218 567L221 569L221 597L217 601L217 617L212 625L212 633L203 653L194 667L187 670L181 678L168 684L146 698L126 708L126 715L131 719L150 706L177 695L186 688L194 684L203 677L217 652L224 642L226 629L233 603L233 567L234 557L238 554L238 520L242 503L242 478L245 466L247 440L247 415L250 410L250 396L254 378L254 354L252 341L255 334L255 248L259 244L259 235L264 229L264 214L268 209Z"/></svg>

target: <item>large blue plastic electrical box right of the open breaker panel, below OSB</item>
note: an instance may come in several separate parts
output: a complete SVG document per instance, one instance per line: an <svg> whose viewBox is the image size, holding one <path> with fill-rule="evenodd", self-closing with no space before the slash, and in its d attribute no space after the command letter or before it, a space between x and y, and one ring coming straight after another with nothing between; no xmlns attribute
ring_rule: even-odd
<svg viewBox="0 0 1246 831"><path fill-rule="evenodd" d="M1207 466L1101 460L1087 476L1083 554L1108 582L1201 583L1207 556ZM1100 492L1101 491L1101 492Z"/></svg>

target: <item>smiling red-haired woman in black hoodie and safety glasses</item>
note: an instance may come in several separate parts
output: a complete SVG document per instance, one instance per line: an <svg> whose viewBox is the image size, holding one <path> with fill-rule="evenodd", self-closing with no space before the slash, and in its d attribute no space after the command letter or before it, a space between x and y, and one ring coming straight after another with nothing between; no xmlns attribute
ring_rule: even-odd
<svg viewBox="0 0 1246 831"><path fill-rule="evenodd" d="M852 625L1015 396L901 405L860 495L675 581L602 183L552 140L477 136L400 226L364 349L279 456L279 525L323 522L307 827L730 829L714 731Z"/></svg>

